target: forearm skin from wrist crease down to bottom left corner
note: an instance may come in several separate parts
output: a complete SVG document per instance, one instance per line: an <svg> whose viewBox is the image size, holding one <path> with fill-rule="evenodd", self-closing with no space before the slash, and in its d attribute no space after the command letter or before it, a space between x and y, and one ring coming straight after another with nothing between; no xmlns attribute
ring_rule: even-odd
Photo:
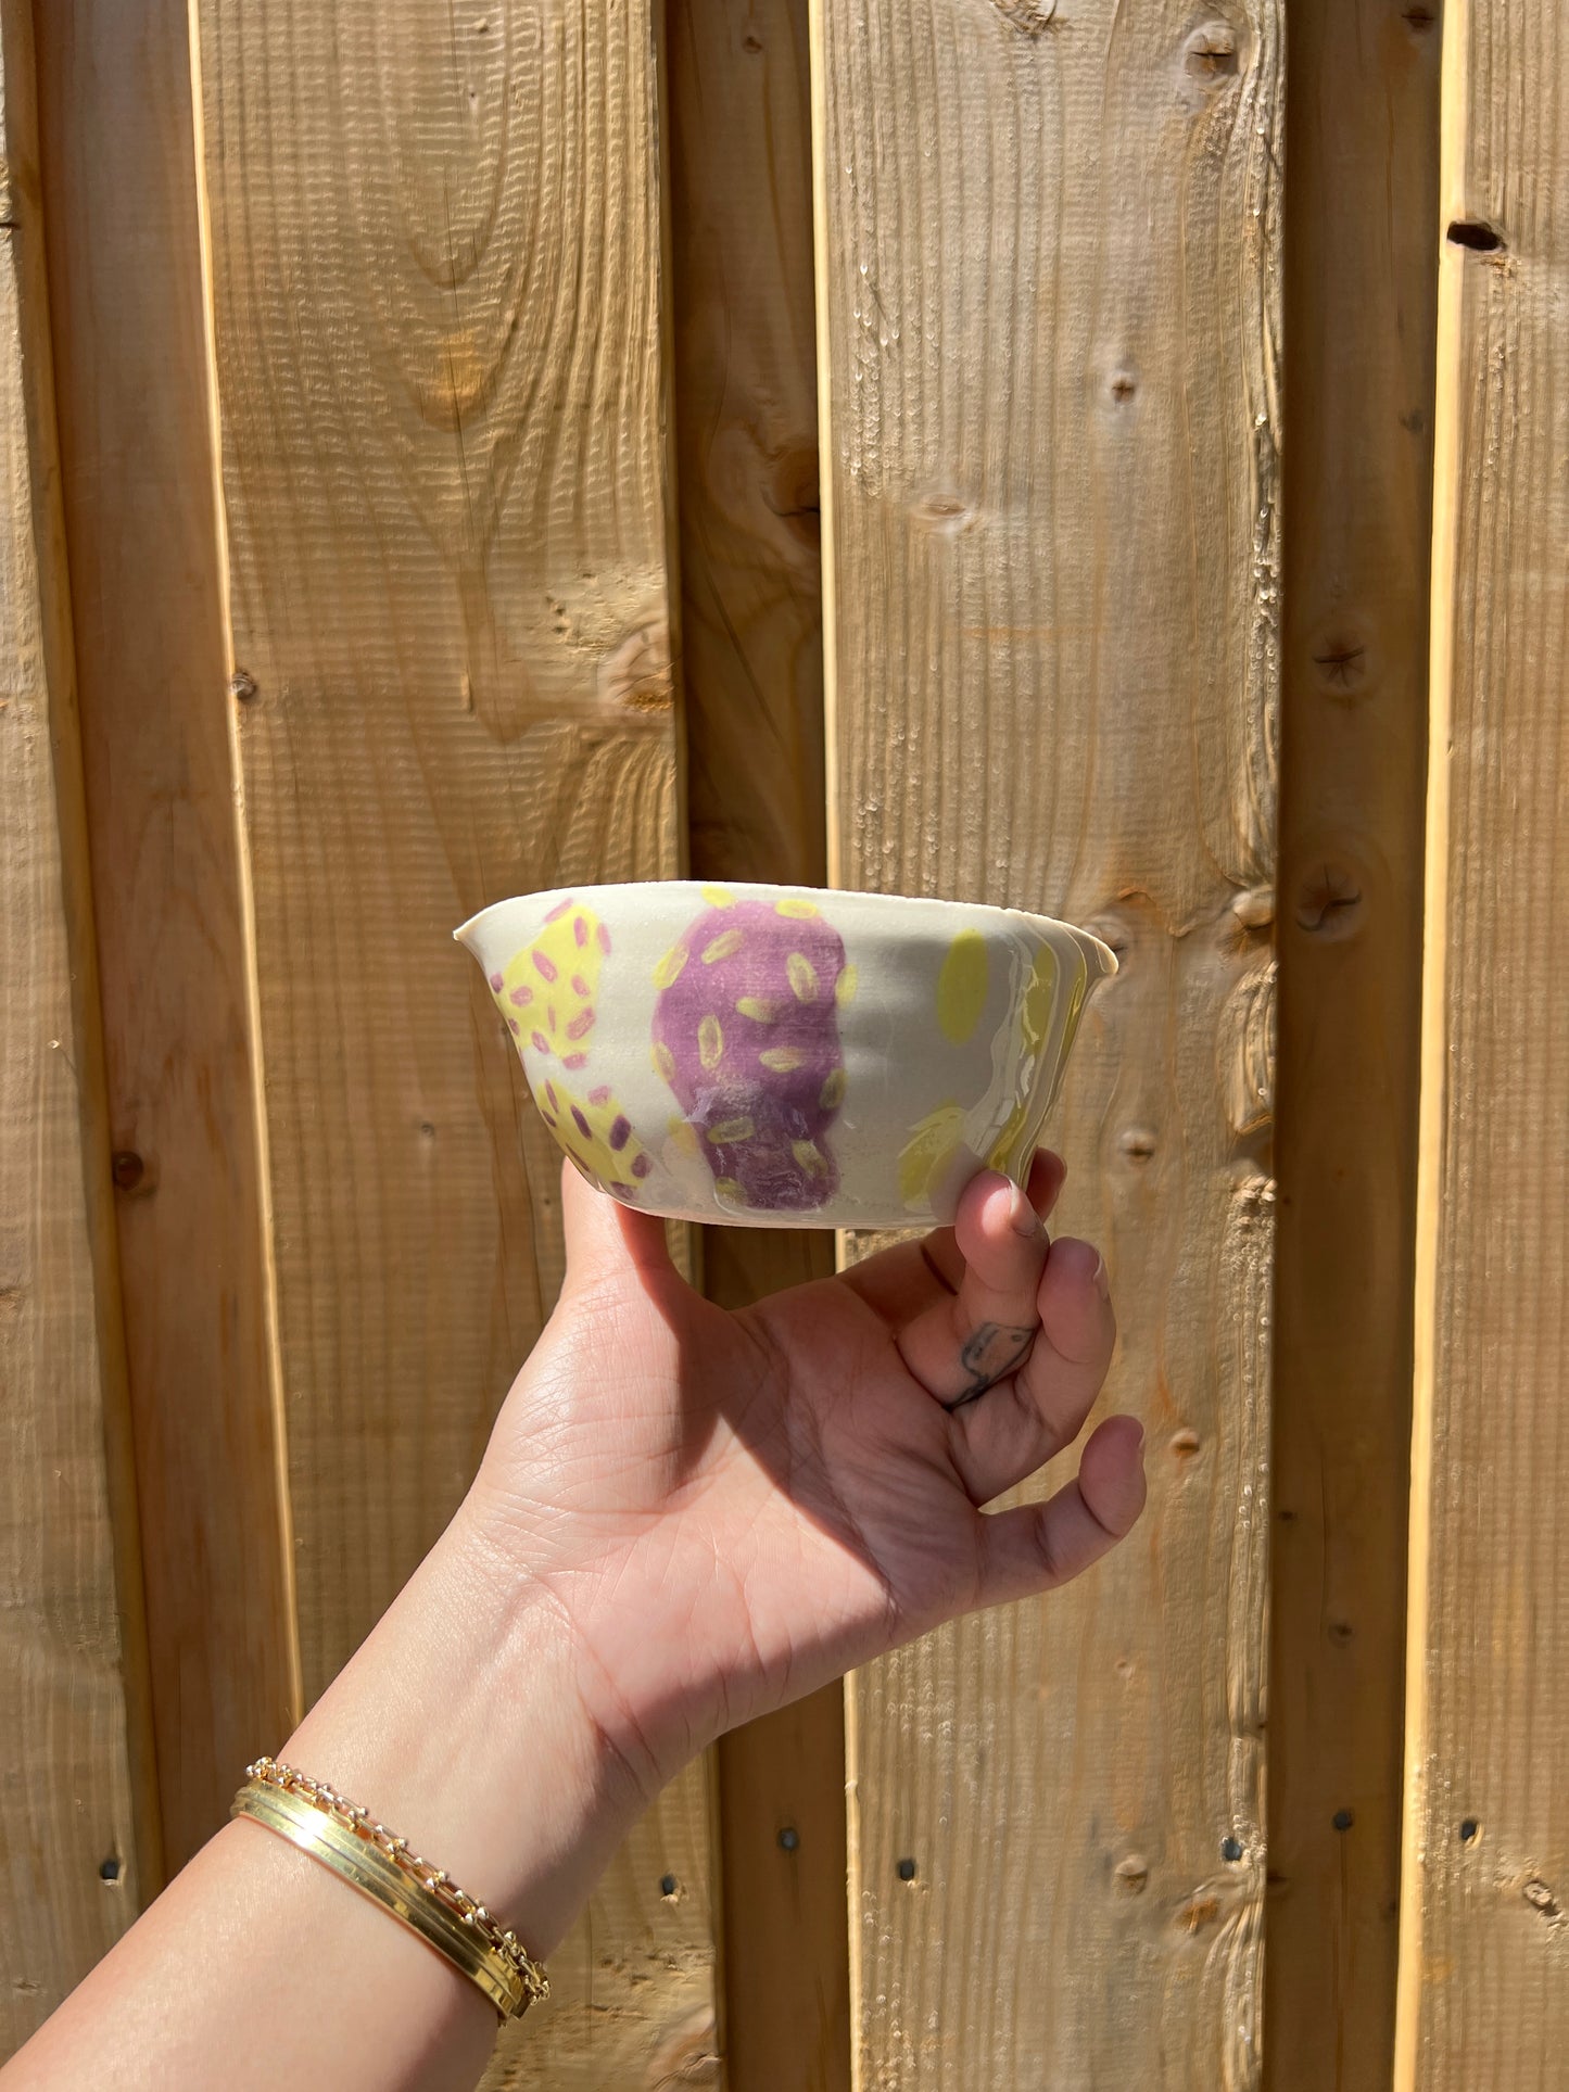
<svg viewBox="0 0 1569 2092"><path fill-rule="evenodd" d="M588 1711L561 1613L462 1515L278 1755L364 1803L540 1958L644 1801L623 1738ZM207 2084L222 2059L234 2088L456 2088L494 2040L494 2008L433 1950L285 1839L232 1822L4 2086Z"/></svg>

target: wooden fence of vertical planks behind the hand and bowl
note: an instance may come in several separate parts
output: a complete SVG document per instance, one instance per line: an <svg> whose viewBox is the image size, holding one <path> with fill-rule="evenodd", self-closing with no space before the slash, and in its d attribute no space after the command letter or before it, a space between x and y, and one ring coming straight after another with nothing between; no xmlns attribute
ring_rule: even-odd
<svg viewBox="0 0 1569 2092"><path fill-rule="evenodd" d="M1061 1142L1151 1508L695 1766L487 2084L1561 2084L1563 13L0 0L0 2054L548 1312L452 925L690 866L1119 948Z"/></svg>

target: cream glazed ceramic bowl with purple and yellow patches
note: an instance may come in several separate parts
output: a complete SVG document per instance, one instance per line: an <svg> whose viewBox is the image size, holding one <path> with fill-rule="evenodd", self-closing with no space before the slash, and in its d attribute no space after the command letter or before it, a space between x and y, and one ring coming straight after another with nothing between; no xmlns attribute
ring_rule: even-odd
<svg viewBox="0 0 1569 2092"><path fill-rule="evenodd" d="M533 1102L626 1205L743 1228L927 1228L1023 1182L1096 981L1017 908L659 881L496 902L485 969Z"/></svg>

